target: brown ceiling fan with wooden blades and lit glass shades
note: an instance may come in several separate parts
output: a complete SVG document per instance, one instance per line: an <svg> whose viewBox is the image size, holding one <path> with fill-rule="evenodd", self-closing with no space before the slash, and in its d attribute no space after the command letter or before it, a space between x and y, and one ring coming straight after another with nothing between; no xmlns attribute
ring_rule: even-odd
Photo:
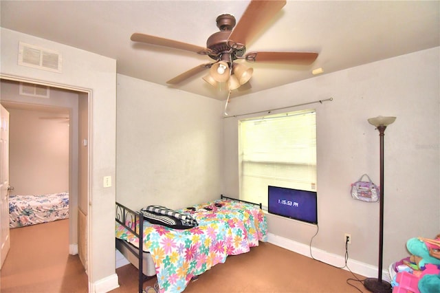
<svg viewBox="0 0 440 293"><path fill-rule="evenodd" d="M236 60L243 59L250 63L309 65L318 58L316 52L250 52L246 54L246 44L254 39L256 34L285 4L285 0L252 0L238 23L231 14L219 15L216 21L220 31L208 38L206 47L140 33L132 34L131 41L195 52L208 55L214 60L213 63L198 65L168 80L166 83L170 85L177 85L206 69L210 69L209 74L204 76L203 80L220 89L238 89L250 80L253 69L246 67L243 63L234 63Z"/></svg>

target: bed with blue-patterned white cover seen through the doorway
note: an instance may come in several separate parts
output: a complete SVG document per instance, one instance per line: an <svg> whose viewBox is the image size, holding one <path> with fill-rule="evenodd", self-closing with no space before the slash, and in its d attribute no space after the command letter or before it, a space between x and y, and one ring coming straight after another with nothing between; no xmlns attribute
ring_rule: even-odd
<svg viewBox="0 0 440 293"><path fill-rule="evenodd" d="M69 193L10 195L10 228L69 218Z"/></svg>

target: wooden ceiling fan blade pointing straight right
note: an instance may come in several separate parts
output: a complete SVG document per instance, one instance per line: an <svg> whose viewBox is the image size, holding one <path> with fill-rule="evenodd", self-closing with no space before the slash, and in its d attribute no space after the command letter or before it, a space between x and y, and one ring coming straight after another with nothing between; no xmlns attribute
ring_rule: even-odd
<svg viewBox="0 0 440 293"><path fill-rule="evenodd" d="M245 59L249 62L293 63L309 65L318 58L315 52L250 52Z"/></svg>

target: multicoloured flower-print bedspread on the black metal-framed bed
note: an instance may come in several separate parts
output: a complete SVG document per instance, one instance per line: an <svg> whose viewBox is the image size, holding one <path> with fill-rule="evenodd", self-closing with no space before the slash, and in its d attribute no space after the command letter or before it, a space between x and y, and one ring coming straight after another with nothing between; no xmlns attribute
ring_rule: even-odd
<svg viewBox="0 0 440 293"><path fill-rule="evenodd" d="M192 214L199 226L175 230L144 221L144 251L153 257L161 293L182 292L192 277L224 263L228 255L267 241L267 221L259 206L219 199L177 211ZM118 223L116 237L139 247L138 238Z"/></svg>

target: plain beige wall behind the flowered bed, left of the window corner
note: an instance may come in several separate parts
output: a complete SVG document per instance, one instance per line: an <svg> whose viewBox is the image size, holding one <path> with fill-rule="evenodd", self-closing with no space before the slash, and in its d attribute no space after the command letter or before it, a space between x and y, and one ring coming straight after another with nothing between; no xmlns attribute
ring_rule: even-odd
<svg viewBox="0 0 440 293"><path fill-rule="evenodd" d="M222 107L118 74L116 199L138 209L219 198Z"/></svg>

